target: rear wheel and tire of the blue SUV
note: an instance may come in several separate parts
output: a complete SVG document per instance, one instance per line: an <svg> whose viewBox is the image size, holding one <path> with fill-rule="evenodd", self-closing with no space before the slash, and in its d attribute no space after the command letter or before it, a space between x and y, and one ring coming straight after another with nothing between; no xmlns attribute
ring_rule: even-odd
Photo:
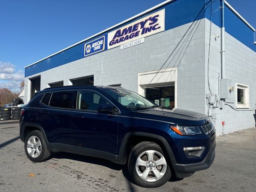
<svg viewBox="0 0 256 192"><path fill-rule="evenodd" d="M27 157L32 162L42 162L49 158L50 152L47 149L46 142L42 133L34 130L28 133L24 144Z"/></svg>

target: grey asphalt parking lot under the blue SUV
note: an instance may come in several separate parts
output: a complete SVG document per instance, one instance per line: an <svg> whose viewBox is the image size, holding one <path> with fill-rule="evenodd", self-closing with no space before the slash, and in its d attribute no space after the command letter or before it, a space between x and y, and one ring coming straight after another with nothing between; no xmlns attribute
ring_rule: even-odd
<svg viewBox="0 0 256 192"><path fill-rule="evenodd" d="M256 191L256 128L217 137L212 166L159 188L132 183L125 166L68 153L31 162L19 140L19 122L0 122L0 192L254 192Z"/></svg>

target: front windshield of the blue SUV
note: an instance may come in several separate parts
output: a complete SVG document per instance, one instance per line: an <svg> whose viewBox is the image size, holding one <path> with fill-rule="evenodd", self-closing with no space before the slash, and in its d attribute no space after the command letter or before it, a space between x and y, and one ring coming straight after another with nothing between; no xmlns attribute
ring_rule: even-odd
<svg viewBox="0 0 256 192"><path fill-rule="evenodd" d="M117 102L129 109L149 109L158 107L155 103L147 100L146 98L136 94L130 90L123 88L106 88L103 89L109 96L114 98Z"/></svg>

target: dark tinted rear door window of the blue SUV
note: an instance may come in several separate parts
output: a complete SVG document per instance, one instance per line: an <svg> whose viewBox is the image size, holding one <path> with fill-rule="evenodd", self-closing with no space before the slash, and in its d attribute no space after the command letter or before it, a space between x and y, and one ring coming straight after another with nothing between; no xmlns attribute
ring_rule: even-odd
<svg viewBox="0 0 256 192"><path fill-rule="evenodd" d="M73 91L53 92L49 106L70 108Z"/></svg>

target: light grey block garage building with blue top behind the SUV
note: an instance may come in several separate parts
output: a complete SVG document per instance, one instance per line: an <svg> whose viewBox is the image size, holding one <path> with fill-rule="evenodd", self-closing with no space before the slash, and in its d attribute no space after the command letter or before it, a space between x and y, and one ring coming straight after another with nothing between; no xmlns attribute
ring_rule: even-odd
<svg viewBox="0 0 256 192"><path fill-rule="evenodd" d="M24 103L48 87L121 86L207 114L217 135L254 127L254 33L224 0L167 0L26 66Z"/></svg>

